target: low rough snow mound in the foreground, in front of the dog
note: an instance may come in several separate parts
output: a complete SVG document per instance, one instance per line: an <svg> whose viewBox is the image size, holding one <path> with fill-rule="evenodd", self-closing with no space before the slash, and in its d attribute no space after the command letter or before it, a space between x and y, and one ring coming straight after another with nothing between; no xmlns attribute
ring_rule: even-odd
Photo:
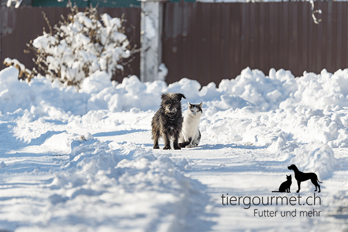
<svg viewBox="0 0 348 232"><path fill-rule="evenodd" d="M103 143L89 133L82 136L63 132L47 139L44 145L71 152L62 163L63 171L53 173L54 179L48 185L55 193L49 197L51 213L45 222L49 226L41 230L63 229L79 222L84 230L102 231L110 226L112 231L183 231L190 226L185 218L197 214L192 210L203 210L209 203L209 198L199 192L202 187L184 176L185 159L154 155L133 143ZM93 209L95 214L85 215L79 210L86 204L84 196L93 196L89 201L102 207ZM67 213L62 205L74 207ZM59 225L57 215L64 215ZM111 222L104 222L105 217L112 218ZM191 220L199 223L201 219Z"/></svg>

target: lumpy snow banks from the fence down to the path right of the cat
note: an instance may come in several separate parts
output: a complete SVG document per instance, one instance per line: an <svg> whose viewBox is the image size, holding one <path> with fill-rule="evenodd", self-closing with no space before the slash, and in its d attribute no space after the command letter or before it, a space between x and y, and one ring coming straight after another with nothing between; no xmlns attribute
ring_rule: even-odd
<svg viewBox="0 0 348 232"><path fill-rule="evenodd" d="M297 143L320 141L331 148L348 147L348 114L343 108L348 106L348 69L294 77L285 70L271 69L265 76L246 68L218 87L214 83L202 87L187 78L169 85L160 80L142 83L135 76L111 83L107 72L97 71L84 79L79 92L44 77L29 84L17 77L14 67L0 72L0 110L7 116L26 115L27 121L51 117L98 123L107 112L156 111L161 93L172 91L185 94L191 103L203 102L201 131L216 141L281 151L281 160L291 157Z"/></svg>

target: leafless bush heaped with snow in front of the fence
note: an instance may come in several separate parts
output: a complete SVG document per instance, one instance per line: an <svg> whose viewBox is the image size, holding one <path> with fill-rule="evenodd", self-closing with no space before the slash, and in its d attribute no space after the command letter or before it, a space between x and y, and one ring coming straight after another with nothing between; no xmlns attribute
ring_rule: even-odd
<svg viewBox="0 0 348 232"><path fill-rule="evenodd" d="M123 72L125 59L132 61L132 54L138 52L131 48L124 34L123 17L111 18L108 14L98 15L95 7L87 7L79 12L77 6L68 5L71 13L54 27L44 14L50 32L43 33L28 48L35 52L33 59L51 80L58 79L64 85L80 87L82 80L97 70L111 75ZM127 62L126 62L127 63ZM30 81L38 74L36 69L25 73Z"/></svg>

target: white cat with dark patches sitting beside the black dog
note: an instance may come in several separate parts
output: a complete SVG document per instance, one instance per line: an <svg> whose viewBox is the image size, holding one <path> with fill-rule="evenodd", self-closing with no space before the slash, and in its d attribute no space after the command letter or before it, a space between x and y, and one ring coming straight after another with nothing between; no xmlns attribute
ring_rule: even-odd
<svg viewBox="0 0 348 232"><path fill-rule="evenodd" d="M199 131L199 120L202 116L202 105L188 103L188 108L184 115L183 128L179 138L181 148L197 147L201 140L201 131Z"/></svg>

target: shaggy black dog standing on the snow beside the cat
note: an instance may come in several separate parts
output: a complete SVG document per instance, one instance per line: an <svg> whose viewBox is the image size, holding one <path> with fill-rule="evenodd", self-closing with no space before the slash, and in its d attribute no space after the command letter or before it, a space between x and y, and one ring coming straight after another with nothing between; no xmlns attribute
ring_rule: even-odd
<svg viewBox="0 0 348 232"><path fill-rule="evenodd" d="M173 138L173 147L180 150L178 145L179 135L183 126L183 113L181 109L181 99L186 98L180 93L164 93L161 95L160 109L152 118L152 139L154 149L159 149L158 140L160 137L165 139L163 150L169 150L170 139Z"/></svg>

